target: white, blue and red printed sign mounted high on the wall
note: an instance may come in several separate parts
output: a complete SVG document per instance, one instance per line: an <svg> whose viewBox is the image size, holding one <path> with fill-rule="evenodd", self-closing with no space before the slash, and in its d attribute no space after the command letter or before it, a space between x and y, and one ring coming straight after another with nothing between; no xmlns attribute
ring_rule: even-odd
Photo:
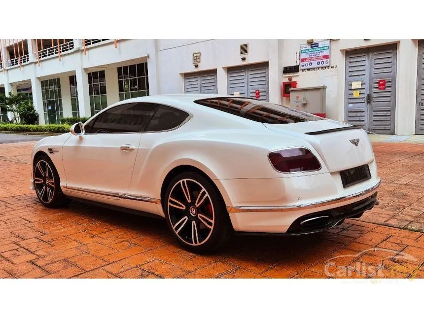
<svg viewBox="0 0 424 318"><path fill-rule="evenodd" d="M300 69L312 69L330 65L330 41L300 45Z"/></svg>

